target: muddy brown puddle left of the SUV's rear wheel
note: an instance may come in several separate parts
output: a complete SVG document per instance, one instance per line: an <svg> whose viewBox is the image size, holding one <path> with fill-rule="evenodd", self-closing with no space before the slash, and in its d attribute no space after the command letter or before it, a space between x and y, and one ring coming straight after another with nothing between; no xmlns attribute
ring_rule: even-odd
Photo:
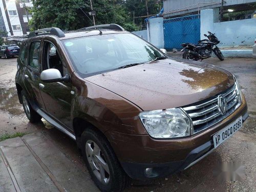
<svg viewBox="0 0 256 192"><path fill-rule="evenodd" d="M8 111L11 115L24 114L16 88L0 88L0 110Z"/></svg>

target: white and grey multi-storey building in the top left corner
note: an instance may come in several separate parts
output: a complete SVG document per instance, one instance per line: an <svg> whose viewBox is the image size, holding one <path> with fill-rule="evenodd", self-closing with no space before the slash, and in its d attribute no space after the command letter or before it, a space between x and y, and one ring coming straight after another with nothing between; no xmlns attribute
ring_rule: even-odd
<svg viewBox="0 0 256 192"><path fill-rule="evenodd" d="M30 0L0 0L0 30L7 34L2 37L28 34L28 9L33 6Z"/></svg>

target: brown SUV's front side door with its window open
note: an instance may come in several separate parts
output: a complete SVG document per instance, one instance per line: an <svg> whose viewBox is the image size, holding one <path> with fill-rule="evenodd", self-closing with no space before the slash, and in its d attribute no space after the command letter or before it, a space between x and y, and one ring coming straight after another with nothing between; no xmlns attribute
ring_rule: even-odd
<svg viewBox="0 0 256 192"><path fill-rule="evenodd" d="M54 44L48 40L44 41L43 45L43 65L42 70L58 69L62 76L71 74L63 65L64 58L59 54L61 50L57 50ZM44 82L41 96L44 100L46 110L50 116L57 120L60 124L72 130L71 122L71 82Z"/></svg>

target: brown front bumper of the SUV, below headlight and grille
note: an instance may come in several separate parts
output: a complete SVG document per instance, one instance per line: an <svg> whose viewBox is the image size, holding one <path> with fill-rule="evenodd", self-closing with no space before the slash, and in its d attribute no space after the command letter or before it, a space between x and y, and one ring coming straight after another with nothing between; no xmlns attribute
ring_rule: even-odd
<svg viewBox="0 0 256 192"><path fill-rule="evenodd" d="M106 132L105 135L124 171L133 179L146 180L164 177L195 164L214 150L212 136L242 115L248 117L245 98L230 116L209 129L190 137L156 140L148 135L127 135ZM146 168L152 168L145 173Z"/></svg>

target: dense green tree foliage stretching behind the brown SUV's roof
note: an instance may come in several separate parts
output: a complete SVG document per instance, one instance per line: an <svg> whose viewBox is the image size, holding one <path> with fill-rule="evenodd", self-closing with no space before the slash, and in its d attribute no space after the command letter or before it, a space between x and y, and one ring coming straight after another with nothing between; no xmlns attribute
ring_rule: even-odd
<svg viewBox="0 0 256 192"><path fill-rule="evenodd" d="M148 0L150 14L159 12L156 2L158 0ZM93 0L93 8L96 11L96 25L115 23L127 31L139 30L133 24L134 9L138 16L146 14L145 0ZM89 0L33 0L33 8L30 11L33 13L29 22L32 31L48 27L76 30L93 25L84 15L86 13L89 16L88 12L91 11Z"/></svg>

